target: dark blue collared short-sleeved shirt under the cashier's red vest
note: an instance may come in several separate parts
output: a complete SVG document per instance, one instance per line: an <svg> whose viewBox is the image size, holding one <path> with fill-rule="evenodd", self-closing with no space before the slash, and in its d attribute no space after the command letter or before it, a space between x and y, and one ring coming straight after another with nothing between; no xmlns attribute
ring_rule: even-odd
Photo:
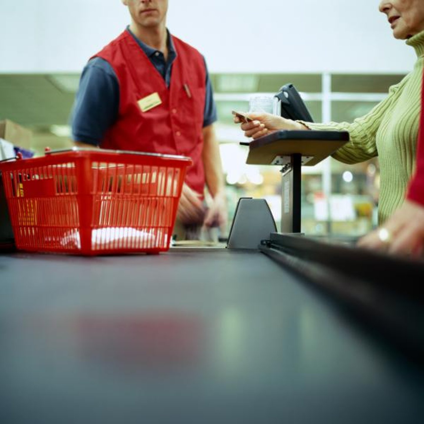
<svg viewBox="0 0 424 424"><path fill-rule="evenodd" d="M168 58L139 39L131 32L153 66L164 78L166 86L171 81L172 64L177 57L172 37L168 31ZM205 61L206 67L206 61ZM72 112L72 135L75 141L100 145L106 131L115 123L119 111L119 83L112 66L100 57L91 59L81 74ZM203 126L217 120L212 85L206 68L206 101Z"/></svg>

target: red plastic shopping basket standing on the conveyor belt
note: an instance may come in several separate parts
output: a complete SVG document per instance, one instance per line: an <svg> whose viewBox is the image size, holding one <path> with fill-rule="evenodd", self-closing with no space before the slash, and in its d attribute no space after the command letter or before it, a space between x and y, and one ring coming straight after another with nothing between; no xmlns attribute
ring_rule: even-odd
<svg viewBox="0 0 424 424"><path fill-rule="evenodd" d="M18 249L83 255L169 249L191 159L73 148L0 164Z"/></svg>

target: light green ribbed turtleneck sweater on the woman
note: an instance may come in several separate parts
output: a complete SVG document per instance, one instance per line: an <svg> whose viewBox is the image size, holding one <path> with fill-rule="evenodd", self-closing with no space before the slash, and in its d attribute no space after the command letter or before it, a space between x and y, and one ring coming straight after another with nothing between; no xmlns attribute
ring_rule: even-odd
<svg viewBox="0 0 424 424"><path fill-rule="evenodd" d="M413 71L390 87L388 97L371 112L353 123L305 123L311 129L349 131L350 142L332 155L340 162L353 164L379 157L379 223L402 205L415 167L424 31L408 39L406 44L412 46L418 56Z"/></svg>

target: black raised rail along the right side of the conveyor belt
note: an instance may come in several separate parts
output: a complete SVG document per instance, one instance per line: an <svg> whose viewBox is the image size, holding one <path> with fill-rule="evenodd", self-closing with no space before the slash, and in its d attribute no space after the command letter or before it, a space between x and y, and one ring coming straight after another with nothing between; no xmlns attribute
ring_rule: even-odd
<svg viewBox="0 0 424 424"><path fill-rule="evenodd" d="M279 233L259 249L424 363L424 261Z"/></svg>

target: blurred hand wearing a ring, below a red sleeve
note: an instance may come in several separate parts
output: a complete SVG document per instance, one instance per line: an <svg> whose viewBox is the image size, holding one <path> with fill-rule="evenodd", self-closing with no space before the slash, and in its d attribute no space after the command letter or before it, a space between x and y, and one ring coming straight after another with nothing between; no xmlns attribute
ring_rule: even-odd
<svg viewBox="0 0 424 424"><path fill-rule="evenodd" d="M418 257L424 253L424 206L405 201L384 226L362 237L359 247Z"/></svg>

